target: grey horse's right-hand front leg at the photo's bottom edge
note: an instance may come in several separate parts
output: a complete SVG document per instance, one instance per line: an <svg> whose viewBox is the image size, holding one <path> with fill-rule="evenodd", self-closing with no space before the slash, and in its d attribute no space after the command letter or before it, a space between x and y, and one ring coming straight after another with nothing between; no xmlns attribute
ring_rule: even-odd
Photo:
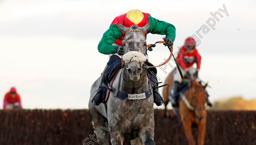
<svg viewBox="0 0 256 145"><path fill-rule="evenodd" d="M146 128L140 133L140 139L144 145L155 145L154 129L151 127Z"/></svg>

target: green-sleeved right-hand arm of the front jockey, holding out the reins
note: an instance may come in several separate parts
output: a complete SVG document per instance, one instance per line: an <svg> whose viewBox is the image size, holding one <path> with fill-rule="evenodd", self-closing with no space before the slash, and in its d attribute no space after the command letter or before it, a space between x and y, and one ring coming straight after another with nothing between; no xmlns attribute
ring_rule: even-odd
<svg viewBox="0 0 256 145"><path fill-rule="evenodd" d="M155 19L151 15L148 16L148 21L150 22L148 33L165 35L166 38L170 38L174 42L176 28L172 24Z"/></svg>

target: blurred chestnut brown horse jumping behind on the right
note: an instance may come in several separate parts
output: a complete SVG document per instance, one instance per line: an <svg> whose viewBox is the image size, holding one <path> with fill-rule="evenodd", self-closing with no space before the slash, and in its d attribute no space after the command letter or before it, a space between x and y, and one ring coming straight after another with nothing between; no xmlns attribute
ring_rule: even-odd
<svg viewBox="0 0 256 145"><path fill-rule="evenodd" d="M173 83L173 71L169 74L165 83L168 83L168 86L165 86L163 90L165 111L164 115L167 115L166 105L168 104L168 96L171 91ZM189 81L189 89L184 93L180 94L182 98L179 103L179 112L184 129L184 133L189 141L189 145L195 145L195 140L192 135L192 123L195 124L198 128L198 145L204 144L204 136L206 130L206 110L205 110L205 101L207 93L205 92L205 86L201 83L196 82L195 80Z"/></svg>

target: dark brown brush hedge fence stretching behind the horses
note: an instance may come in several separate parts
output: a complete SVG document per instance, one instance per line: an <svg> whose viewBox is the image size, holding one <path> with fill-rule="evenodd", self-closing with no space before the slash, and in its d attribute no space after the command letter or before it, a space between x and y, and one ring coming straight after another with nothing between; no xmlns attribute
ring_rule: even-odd
<svg viewBox="0 0 256 145"><path fill-rule="evenodd" d="M156 144L188 144L176 119L155 110ZM94 134L89 110L0 110L1 145L82 145ZM208 111L205 145L256 145L256 111ZM193 128L197 138L197 129ZM95 143L94 144L98 144ZM124 143L130 144L129 141Z"/></svg>

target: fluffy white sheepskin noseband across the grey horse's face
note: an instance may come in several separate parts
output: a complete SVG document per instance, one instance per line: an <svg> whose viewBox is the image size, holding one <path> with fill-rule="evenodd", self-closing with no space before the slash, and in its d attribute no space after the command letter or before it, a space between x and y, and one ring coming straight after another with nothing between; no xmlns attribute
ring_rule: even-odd
<svg viewBox="0 0 256 145"><path fill-rule="evenodd" d="M147 60L146 56L138 51L129 51L123 55L123 60L125 63L129 63L130 61L139 62L141 65Z"/></svg>

